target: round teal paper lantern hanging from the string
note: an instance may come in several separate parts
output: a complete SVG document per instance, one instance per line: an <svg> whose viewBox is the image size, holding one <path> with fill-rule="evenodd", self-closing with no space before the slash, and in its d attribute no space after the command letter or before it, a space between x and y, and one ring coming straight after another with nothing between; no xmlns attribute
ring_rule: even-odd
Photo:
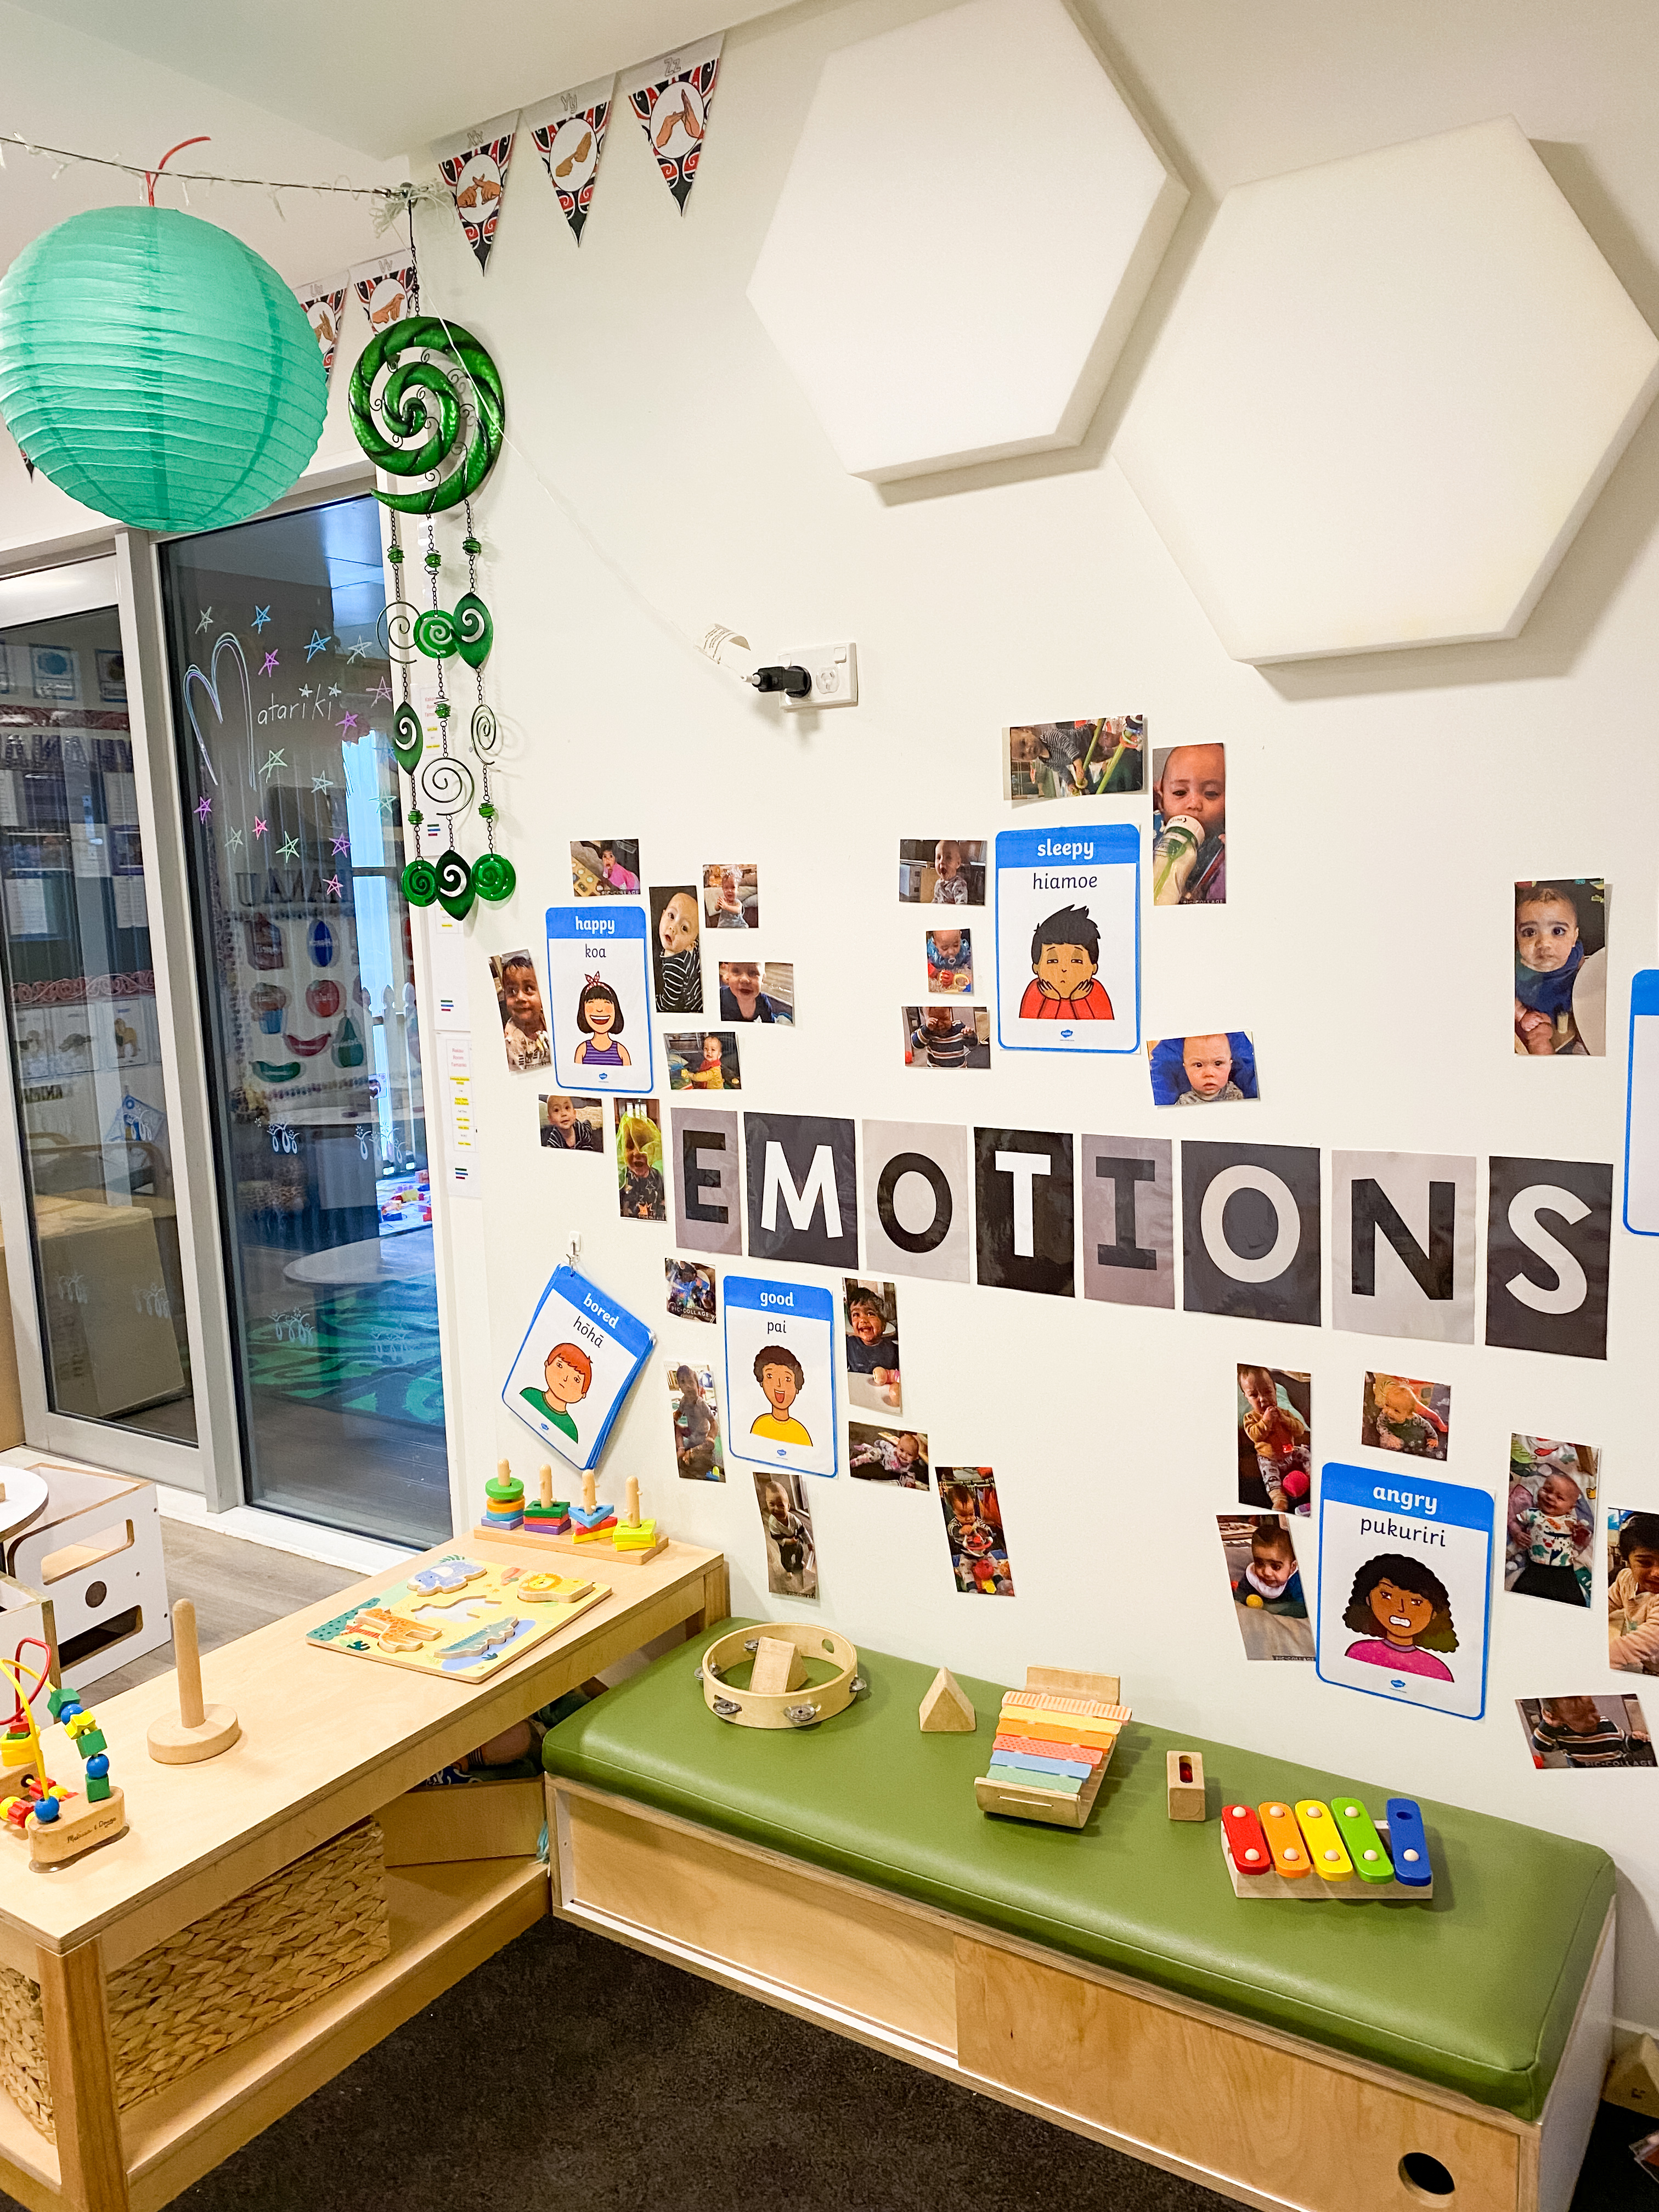
<svg viewBox="0 0 1659 2212"><path fill-rule="evenodd" d="M71 215L0 283L7 429L60 491L133 529L210 531L270 507L325 407L299 299L195 215Z"/></svg>

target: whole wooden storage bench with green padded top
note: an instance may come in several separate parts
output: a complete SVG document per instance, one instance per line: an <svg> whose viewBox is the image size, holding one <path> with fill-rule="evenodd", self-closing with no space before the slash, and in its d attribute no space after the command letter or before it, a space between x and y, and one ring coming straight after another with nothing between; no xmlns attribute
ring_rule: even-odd
<svg viewBox="0 0 1659 2212"><path fill-rule="evenodd" d="M1219 1798L1166 1816L1159 1730L1126 1730L1082 1834L1037 1829L973 1805L991 1683L962 1683L975 1736L922 1736L931 1670L865 1652L865 1701L761 1734L692 1666L546 1739L568 1920L1241 2203L1566 2212L1608 2057L1606 1854L1425 1805L1431 1902L1243 1905ZM1252 1803L1389 1794L1183 1747Z"/></svg>

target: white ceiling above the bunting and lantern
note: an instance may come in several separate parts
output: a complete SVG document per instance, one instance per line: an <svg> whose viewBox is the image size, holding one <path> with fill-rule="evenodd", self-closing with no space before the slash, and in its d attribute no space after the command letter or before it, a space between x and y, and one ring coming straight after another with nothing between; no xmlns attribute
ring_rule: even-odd
<svg viewBox="0 0 1659 2212"><path fill-rule="evenodd" d="M18 4L387 159L770 15L776 0L495 0L482 11L438 0Z"/></svg>

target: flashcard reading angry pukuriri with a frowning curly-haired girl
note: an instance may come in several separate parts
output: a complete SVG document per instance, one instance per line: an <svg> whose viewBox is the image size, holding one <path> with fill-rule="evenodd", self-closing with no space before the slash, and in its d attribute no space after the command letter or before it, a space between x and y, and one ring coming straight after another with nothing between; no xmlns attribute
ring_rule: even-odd
<svg viewBox="0 0 1659 2212"><path fill-rule="evenodd" d="M1418 1467L1318 1484L1318 1679L1464 1721L1486 1710L1493 1502Z"/></svg>

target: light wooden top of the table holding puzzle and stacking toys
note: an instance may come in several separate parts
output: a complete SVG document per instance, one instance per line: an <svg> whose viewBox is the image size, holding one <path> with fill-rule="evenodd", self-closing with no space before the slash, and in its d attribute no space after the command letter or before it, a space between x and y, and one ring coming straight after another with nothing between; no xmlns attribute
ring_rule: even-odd
<svg viewBox="0 0 1659 2212"><path fill-rule="evenodd" d="M29 1845L0 1836L0 1964L31 1973L35 1947L69 1951L93 1936L104 1936L106 1966L135 1958L688 1619L701 1604L703 1577L721 1566L721 1553L695 1544L670 1544L648 1566L608 1568L595 1559L593 1575L611 1584L611 1597L482 1683L305 1644L307 1628L460 1551L526 1564L518 1548L451 1540L204 1652L208 1703L230 1705L241 1721L241 1739L217 1759L184 1767L150 1759L150 1721L177 1714L175 1674L108 1701L93 1694L111 1781L126 1794L128 1832L53 1869L31 1867ZM62 1728L42 1730L42 1750L53 1781L84 1787Z"/></svg>

